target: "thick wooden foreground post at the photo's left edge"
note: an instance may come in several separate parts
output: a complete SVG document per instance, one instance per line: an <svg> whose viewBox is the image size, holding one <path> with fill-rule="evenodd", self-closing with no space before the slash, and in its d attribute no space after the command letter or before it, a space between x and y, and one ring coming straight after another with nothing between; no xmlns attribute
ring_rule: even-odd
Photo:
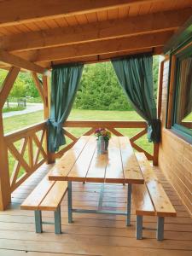
<svg viewBox="0 0 192 256"><path fill-rule="evenodd" d="M5 210L11 201L8 148L4 140L3 114L0 110L0 211Z"/></svg>

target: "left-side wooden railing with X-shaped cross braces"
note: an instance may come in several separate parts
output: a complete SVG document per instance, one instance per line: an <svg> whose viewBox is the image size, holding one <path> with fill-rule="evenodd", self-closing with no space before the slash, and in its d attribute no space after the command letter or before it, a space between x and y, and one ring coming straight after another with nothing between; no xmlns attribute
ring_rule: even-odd
<svg viewBox="0 0 192 256"><path fill-rule="evenodd" d="M5 135L9 150L11 192L47 160L45 133L46 126L43 122Z"/></svg>

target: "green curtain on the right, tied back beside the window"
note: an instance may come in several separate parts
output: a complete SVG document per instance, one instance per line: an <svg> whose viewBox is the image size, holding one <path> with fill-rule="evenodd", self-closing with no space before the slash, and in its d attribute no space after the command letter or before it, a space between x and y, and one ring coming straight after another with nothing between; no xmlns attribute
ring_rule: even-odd
<svg viewBox="0 0 192 256"><path fill-rule="evenodd" d="M125 95L148 123L148 142L160 142L160 119L154 100L153 57L133 55L112 60L114 71Z"/></svg>

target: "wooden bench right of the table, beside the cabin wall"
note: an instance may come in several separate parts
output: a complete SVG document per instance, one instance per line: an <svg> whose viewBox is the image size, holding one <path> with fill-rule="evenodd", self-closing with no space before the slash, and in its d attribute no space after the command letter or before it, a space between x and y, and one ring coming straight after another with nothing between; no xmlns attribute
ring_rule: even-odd
<svg viewBox="0 0 192 256"><path fill-rule="evenodd" d="M145 154L137 153L136 156L145 180L142 185L132 186L132 197L137 215L136 237L137 239L143 238L143 216L157 216L156 238L161 241L164 239L164 218L176 217L177 213Z"/></svg>

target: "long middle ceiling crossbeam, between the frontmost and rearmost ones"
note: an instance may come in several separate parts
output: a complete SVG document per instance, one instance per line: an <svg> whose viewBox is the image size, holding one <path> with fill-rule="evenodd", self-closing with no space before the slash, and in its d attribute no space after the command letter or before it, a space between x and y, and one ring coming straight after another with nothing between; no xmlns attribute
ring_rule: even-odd
<svg viewBox="0 0 192 256"><path fill-rule="evenodd" d="M192 9L166 11L120 20L94 22L83 26L57 27L0 38L0 49L17 51L58 45L79 44L144 33L174 31L189 18Z"/></svg>

